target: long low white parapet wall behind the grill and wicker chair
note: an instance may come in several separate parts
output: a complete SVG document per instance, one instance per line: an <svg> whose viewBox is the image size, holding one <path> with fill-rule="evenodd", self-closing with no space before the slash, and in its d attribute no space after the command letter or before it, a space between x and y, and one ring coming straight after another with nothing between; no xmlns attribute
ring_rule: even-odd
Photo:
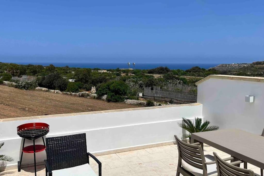
<svg viewBox="0 0 264 176"><path fill-rule="evenodd" d="M182 136L182 129L177 124L182 117L202 117L202 105L192 103L0 119L0 142L5 142L1 154L14 158L13 162L7 163L7 170L16 167L22 148L22 138L17 135L16 127L24 123L48 123L50 132L46 137L86 133L88 152L100 155L172 144L175 134ZM36 144L43 144L42 139L37 139ZM26 140L27 145L32 145L32 141ZM43 163L44 159L45 151L36 153L37 163ZM24 153L22 165L32 163L33 154Z"/></svg>

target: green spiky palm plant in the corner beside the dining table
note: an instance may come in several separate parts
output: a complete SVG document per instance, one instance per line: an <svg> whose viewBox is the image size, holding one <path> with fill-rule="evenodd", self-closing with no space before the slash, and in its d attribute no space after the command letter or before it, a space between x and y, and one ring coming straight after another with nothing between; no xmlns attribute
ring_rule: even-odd
<svg viewBox="0 0 264 176"><path fill-rule="evenodd" d="M182 122L178 123L180 127L187 130L189 134L183 134L182 138L187 139L189 138L191 141L191 134L195 132L202 132L202 131L214 131L218 130L219 126L209 126L210 121L206 120L202 123L202 118L196 118L195 121L192 122L190 119L182 117Z"/></svg>

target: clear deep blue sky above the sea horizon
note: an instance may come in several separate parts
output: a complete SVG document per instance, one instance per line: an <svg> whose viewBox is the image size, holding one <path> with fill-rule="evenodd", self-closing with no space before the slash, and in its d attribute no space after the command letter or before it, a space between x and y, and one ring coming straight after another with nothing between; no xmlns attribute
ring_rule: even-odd
<svg viewBox="0 0 264 176"><path fill-rule="evenodd" d="M1 1L0 61L264 60L264 1Z"/></svg>

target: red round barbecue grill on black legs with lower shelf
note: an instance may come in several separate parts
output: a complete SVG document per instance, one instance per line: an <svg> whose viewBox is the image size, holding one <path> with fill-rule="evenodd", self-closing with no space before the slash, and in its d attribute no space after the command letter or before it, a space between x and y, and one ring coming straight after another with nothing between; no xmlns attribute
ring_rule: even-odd
<svg viewBox="0 0 264 176"><path fill-rule="evenodd" d="M21 153L21 159L17 162L18 172L21 170L23 153L34 153L34 167L36 175L36 152L46 150L44 137L49 132L49 125L47 123L25 123L17 127L17 135L24 138ZM35 145L35 140L42 137L44 145ZM33 140L33 145L24 147L25 139Z"/></svg>

